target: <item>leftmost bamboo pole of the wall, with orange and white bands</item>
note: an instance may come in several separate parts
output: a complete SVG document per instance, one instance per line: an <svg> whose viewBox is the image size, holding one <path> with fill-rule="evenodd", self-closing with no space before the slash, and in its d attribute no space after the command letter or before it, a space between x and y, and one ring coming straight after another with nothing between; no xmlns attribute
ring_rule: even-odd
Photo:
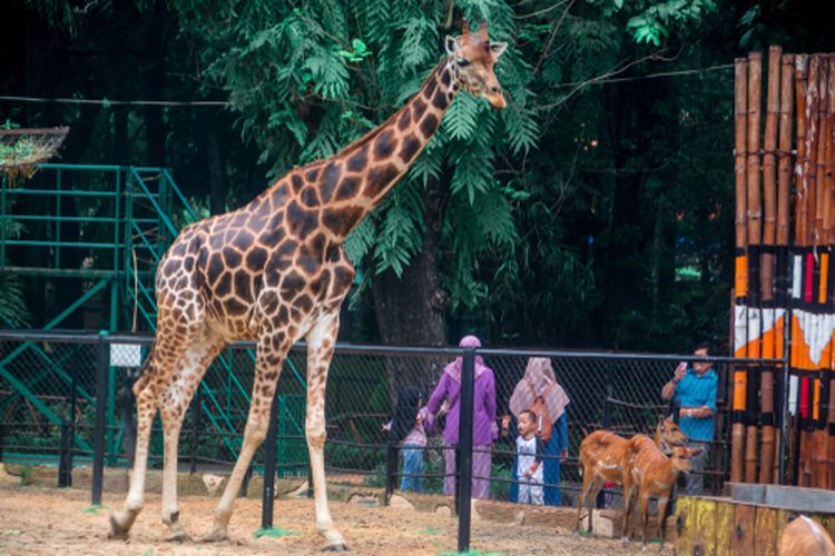
<svg viewBox="0 0 835 556"><path fill-rule="evenodd" d="M747 60L737 58L734 62L734 126L735 126L735 175L736 175L736 272L734 310L734 355L747 356L747 312L745 302L748 292L748 261L746 248L747 232ZM734 369L734 398L731 405L731 456L730 480L743 480L743 453L745 449L745 393L747 386L746 370L741 366Z"/></svg>

